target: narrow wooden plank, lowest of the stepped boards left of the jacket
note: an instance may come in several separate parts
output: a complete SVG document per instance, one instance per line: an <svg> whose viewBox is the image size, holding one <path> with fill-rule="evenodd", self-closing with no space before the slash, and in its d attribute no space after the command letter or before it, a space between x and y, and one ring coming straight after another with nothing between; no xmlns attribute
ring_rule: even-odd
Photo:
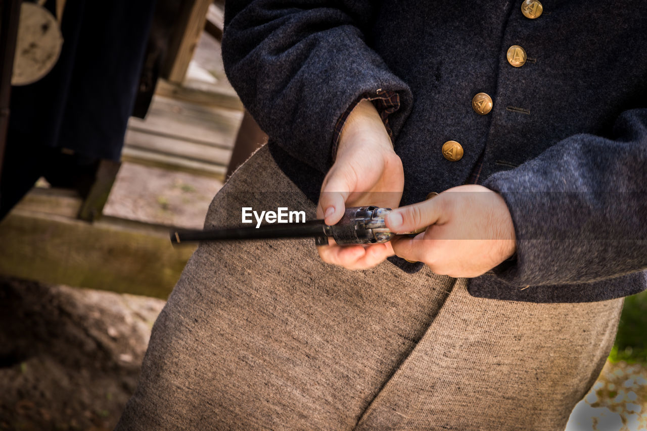
<svg viewBox="0 0 647 431"><path fill-rule="evenodd" d="M128 146L124 147L124 151L122 151L122 161L225 180L226 167L224 165L214 165Z"/></svg>

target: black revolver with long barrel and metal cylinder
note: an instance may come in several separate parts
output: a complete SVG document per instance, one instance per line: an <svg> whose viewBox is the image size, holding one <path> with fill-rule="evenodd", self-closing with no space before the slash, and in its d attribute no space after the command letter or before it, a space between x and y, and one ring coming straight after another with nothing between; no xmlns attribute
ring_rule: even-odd
<svg viewBox="0 0 647 431"><path fill-rule="evenodd" d="M305 223L272 224L260 227L225 227L223 229L171 231L171 242L252 240L261 238L314 238L315 243L328 244L328 238L340 246L388 242L395 236L384 224L390 208L375 206L346 208L342 220L329 226L323 220Z"/></svg>

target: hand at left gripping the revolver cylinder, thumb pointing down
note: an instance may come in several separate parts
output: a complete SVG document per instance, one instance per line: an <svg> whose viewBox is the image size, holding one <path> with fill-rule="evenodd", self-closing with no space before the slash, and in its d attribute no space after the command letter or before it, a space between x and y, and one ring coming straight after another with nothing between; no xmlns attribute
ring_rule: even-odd
<svg viewBox="0 0 647 431"><path fill-rule="evenodd" d="M317 205L317 218L336 224L345 207L377 205L396 208L402 198L402 161L373 106L360 101L344 123L333 167L325 176ZM340 247L331 242L318 247L324 262L347 269L371 268L393 255L390 242Z"/></svg>

